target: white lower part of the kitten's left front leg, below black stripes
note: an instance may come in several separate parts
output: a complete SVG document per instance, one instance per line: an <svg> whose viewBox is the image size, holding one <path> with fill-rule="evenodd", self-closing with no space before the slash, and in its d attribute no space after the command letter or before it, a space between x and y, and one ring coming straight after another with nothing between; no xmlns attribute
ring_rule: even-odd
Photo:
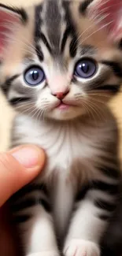
<svg viewBox="0 0 122 256"><path fill-rule="evenodd" d="M28 237L27 256L59 256L53 218L43 207L36 207L36 214L26 237Z"/></svg>

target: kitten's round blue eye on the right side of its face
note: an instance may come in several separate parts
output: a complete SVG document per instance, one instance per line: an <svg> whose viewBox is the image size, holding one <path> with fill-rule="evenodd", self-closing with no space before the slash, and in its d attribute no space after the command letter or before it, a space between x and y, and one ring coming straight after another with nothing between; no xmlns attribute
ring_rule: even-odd
<svg viewBox="0 0 122 256"><path fill-rule="evenodd" d="M76 63L75 67L75 76L79 76L81 78L90 78L94 76L96 72L97 66L94 61L90 59L83 59Z"/></svg>

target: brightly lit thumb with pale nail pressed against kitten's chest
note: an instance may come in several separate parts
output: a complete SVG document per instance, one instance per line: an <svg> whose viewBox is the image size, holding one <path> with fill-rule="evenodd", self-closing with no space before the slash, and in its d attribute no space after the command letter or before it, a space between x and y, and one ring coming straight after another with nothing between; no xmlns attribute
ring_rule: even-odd
<svg viewBox="0 0 122 256"><path fill-rule="evenodd" d="M36 146L22 146L0 154L0 206L39 175L45 152Z"/></svg>

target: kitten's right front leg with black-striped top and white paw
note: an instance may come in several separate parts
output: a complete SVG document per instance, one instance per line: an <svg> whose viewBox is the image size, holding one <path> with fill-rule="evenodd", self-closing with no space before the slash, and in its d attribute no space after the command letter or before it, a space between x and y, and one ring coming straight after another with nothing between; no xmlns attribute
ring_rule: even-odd
<svg viewBox="0 0 122 256"><path fill-rule="evenodd" d="M118 182L94 181L78 196L65 240L65 256L99 256L99 243L116 207Z"/></svg>

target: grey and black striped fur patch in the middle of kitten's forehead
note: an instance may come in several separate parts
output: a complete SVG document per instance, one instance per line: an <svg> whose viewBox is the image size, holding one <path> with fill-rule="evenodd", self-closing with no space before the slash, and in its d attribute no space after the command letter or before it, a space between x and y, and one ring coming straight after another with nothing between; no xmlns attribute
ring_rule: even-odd
<svg viewBox="0 0 122 256"><path fill-rule="evenodd" d="M61 54L65 49L68 36L71 37L71 40L73 39L70 52L72 52L75 44L76 29L69 6L69 1L51 0L43 2L41 6L35 7L36 42L43 41L50 53L54 56Z"/></svg>

